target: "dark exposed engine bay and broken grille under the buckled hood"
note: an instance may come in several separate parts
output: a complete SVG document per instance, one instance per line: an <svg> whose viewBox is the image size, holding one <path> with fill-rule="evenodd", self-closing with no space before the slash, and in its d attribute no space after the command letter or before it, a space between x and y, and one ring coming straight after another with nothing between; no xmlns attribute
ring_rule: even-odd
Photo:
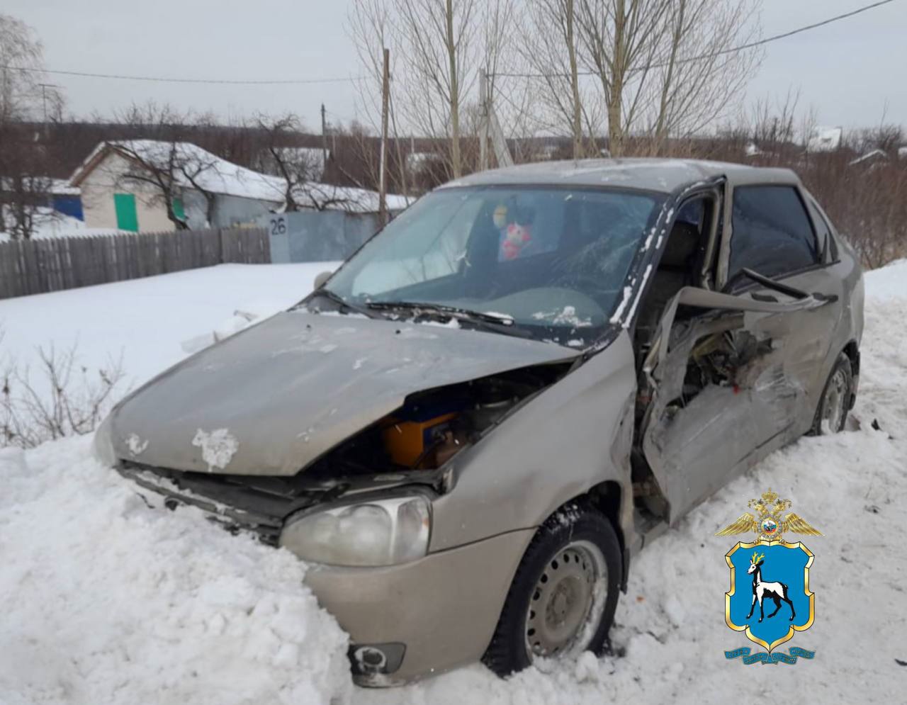
<svg viewBox="0 0 907 705"><path fill-rule="evenodd" d="M515 408L563 377L571 363L524 367L411 395L405 405L336 446L297 475L192 473L122 461L120 473L163 498L190 504L229 531L277 545L290 514L346 494L430 485L452 488L444 465L478 442Z"/></svg>

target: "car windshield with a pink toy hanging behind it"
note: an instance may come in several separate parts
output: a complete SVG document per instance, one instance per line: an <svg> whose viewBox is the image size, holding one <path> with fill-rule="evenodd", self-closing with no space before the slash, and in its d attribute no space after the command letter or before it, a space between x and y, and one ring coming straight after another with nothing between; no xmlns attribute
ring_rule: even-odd
<svg viewBox="0 0 907 705"><path fill-rule="evenodd" d="M659 202L617 190L442 189L392 221L327 288L352 306L496 322L580 347L609 323Z"/></svg>

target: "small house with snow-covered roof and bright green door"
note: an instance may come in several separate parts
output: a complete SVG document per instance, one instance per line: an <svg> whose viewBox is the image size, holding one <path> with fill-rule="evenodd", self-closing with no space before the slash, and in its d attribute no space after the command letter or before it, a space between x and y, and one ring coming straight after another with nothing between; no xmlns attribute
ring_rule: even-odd
<svg viewBox="0 0 907 705"><path fill-rule="evenodd" d="M192 228L253 222L283 204L282 180L228 162L190 142L102 142L69 181L82 191L85 225L172 230L163 191L151 183L155 172L172 182L172 211ZM214 199L210 219L205 193Z"/></svg>

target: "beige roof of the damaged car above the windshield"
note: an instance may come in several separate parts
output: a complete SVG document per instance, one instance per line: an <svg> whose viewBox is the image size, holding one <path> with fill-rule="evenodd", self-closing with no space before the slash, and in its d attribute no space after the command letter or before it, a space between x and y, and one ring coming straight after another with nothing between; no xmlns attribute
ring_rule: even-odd
<svg viewBox="0 0 907 705"><path fill-rule="evenodd" d="M731 185L745 183L799 184L794 171L755 167L730 162L680 159L587 159L535 162L480 171L445 183L457 186L558 184L568 186L615 186L670 193L688 184L727 177Z"/></svg>

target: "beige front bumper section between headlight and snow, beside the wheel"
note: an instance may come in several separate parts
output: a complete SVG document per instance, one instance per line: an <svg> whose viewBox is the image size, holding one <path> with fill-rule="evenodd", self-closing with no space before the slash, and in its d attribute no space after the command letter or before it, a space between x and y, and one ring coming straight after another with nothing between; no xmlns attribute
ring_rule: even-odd
<svg viewBox="0 0 907 705"><path fill-rule="evenodd" d="M403 565L313 565L305 582L349 633L351 656L363 646L403 645L393 672L366 673L353 660L357 684L396 685L482 658L532 534L501 534Z"/></svg>

